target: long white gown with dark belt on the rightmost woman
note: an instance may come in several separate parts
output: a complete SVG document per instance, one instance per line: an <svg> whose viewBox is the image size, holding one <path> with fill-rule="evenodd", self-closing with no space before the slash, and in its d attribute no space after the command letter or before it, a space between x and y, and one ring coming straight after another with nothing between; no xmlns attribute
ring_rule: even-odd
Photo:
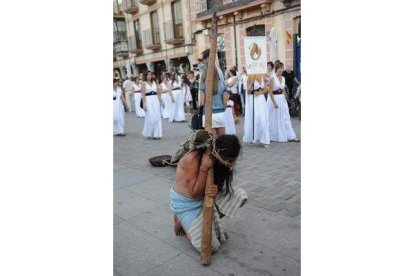
<svg viewBox="0 0 414 276"><path fill-rule="evenodd" d="M282 77L282 83L277 77L274 78L273 91L278 89L285 89L285 78ZM269 110L269 133L270 140L276 142L287 142L288 140L296 139L295 131L290 121L289 106L284 94L273 95L278 108L273 106L270 95L267 98L267 106Z"/></svg>

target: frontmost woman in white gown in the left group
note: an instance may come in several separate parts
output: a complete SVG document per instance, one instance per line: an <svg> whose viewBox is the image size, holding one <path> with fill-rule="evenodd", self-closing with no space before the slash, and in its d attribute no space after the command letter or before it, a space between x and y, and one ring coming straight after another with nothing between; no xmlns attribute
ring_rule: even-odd
<svg viewBox="0 0 414 276"><path fill-rule="evenodd" d="M144 81L141 85L142 104L145 110L145 123L142 135L149 139L161 139L162 120L161 120L161 93L157 93L155 75L151 71L144 74Z"/></svg>

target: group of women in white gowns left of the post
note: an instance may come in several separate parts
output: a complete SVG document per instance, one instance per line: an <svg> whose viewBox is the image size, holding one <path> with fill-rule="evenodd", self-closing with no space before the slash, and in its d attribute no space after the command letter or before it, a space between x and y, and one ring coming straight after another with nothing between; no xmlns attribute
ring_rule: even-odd
<svg viewBox="0 0 414 276"><path fill-rule="evenodd" d="M148 139L161 139L162 119L167 119L170 123L185 122L184 104L189 106L192 101L185 77L183 81L176 73L165 72L159 84L155 79L155 74L147 71L133 83L136 116L145 118L142 135ZM123 106L127 104L116 80L114 80L114 99L115 94L119 94L120 100L116 103L114 101L114 135L125 136Z"/></svg>

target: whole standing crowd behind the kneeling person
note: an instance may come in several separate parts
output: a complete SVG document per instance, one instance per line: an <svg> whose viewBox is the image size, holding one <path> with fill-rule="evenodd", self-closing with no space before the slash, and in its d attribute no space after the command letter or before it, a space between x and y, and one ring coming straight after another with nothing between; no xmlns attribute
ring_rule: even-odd
<svg viewBox="0 0 414 276"><path fill-rule="evenodd" d="M144 118L142 135L162 138L163 119L168 123L186 122L186 115L199 112L205 121L205 92L209 49L202 52L192 71L178 74L164 71L156 77L147 71L122 82L114 79L114 135L125 136L124 117L134 112ZM201 72L199 67L202 68ZM269 147L271 141L298 142L289 114L289 98L294 85L300 85L290 64L277 60L267 63L267 74L249 80L246 68L236 66L225 73L215 65L212 128L215 134L236 134L239 116L244 116L243 142Z"/></svg>

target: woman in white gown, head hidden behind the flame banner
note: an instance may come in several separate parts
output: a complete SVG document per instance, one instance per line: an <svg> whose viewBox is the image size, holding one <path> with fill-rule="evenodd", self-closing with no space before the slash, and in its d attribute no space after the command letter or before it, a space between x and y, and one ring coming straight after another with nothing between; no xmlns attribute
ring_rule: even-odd
<svg viewBox="0 0 414 276"><path fill-rule="evenodd" d="M270 147L269 115L265 99L264 80L253 81L253 90L246 92L243 142ZM249 89L250 90L250 89Z"/></svg>

